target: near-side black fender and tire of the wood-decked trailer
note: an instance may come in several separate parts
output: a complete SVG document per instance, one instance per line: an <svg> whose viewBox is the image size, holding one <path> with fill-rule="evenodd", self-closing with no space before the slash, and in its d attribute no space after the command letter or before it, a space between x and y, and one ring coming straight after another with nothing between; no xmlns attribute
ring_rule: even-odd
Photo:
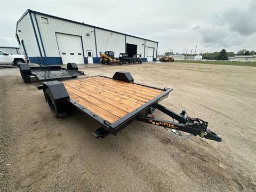
<svg viewBox="0 0 256 192"><path fill-rule="evenodd" d="M53 115L57 118L65 117L68 113L69 94L63 83L59 81L44 82L43 91Z"/></svg>

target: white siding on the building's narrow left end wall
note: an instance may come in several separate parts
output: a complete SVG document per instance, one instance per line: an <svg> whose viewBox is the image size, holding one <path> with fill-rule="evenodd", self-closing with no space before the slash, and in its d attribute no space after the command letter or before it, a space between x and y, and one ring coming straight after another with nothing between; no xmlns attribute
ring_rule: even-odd
<svg viewBox="0 0 256 192"><path fill-rule="evenodd" d="M28 57L39 57L40 53L37 47L36 37L34 34L29 14L23 17L23 19L18 23L17 28L18 30L21 30L21 32L17 30L17 34L20 38L20 42L22 39L24 41ZM21 44L19 45L19 47L21 49L22 54L25 54Z"/></svg>

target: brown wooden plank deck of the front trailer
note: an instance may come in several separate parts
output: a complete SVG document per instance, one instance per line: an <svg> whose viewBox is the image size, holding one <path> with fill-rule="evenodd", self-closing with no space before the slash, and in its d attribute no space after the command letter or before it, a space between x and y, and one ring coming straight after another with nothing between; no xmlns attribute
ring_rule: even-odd
<svg viewBox="0 0 256 192"><path fill-rule="evenodd" d="M111 124L164 92L101 76L62 83L70 99Z"/></svg>

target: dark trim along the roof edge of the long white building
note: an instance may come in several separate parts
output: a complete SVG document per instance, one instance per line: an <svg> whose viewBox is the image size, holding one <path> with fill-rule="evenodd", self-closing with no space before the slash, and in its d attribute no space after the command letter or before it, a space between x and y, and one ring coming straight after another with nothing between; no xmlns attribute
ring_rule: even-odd
<svg viewBox="0 0 256 192"><path fill-rule="evenodd" d="M125 34L125 33L120 33L120 32L114 31L114 30L109 30L109 29L105 29L105 28L101 28L101 27L97 27L97 26L92 26L92 25L88 25L88 24L85 24L85 23L82 23L82 22L78 22L78 21L73 21L73 20L69 20L69 19L60 18L60 17L56 17L56 16L54 16L54 15L50 15L50 14L46 14L46 13L41 13L41 12L33 11L33 10L30 10L30 9L28 9L28 10L21 16L21 18L17 21L17 24L23 19L23 17L25 17L25 15L26 15L28 12L36 13L36 14L41 14L41 15L44 15L44 16L46 16L46 17L52 17L52 18L55 18L55 19L60 19L60 20L63 20L63 21L73 22L73 23L76 23L76 24L79 24L79 25L83 25L83 26L88 26L88 27L92 27L92 28L95 27L96 29L107 30L107 31L110 31L110 32L113 32L113 33L122 34L122 35L127 35L127 36L130 36L130 37L140 38L140 39L143 39L143 40L146 40L146 41L158 43L158 42L152 41L152 40L150 40L150 39L145 39L145 38L141 38L141 37L137 37L137 36L133 36L133 35L128 35L128 34ZM16 33L17 33L17 31L16 31Z"/></svg>

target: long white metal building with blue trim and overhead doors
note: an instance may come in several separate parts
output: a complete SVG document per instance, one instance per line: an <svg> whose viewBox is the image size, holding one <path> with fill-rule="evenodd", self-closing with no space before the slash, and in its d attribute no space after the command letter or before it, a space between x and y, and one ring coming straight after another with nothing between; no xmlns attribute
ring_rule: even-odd
<svg viewBox="0 0 256 192"><path fill-rule="evenodd" d="M85 23L27 10L17 21L20 52L30 62L60 65L67 62L100 63L100 52L141 54L143 61L156 61L158 42L103 29Z"/></svg>

